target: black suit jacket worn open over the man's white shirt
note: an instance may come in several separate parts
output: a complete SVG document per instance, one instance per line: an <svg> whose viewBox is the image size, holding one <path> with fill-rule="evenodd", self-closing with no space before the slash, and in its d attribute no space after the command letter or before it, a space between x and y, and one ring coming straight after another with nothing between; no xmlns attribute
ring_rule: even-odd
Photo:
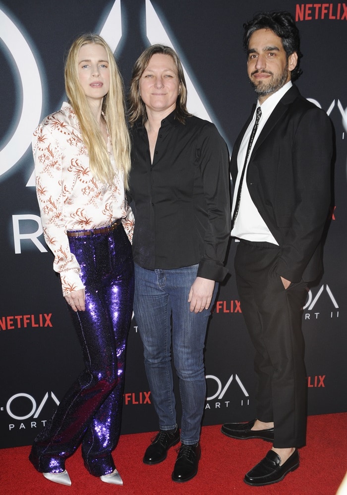
<svg viewBox="0 0 347 495"><path fill-rule="evenodd" d="M254 110L232 151L234 184L238 150ZM246 174L250 196L281 248L277 273L291 282L315 280L322 271L332 155L330 119L293 85L260 132Z"/></svg>

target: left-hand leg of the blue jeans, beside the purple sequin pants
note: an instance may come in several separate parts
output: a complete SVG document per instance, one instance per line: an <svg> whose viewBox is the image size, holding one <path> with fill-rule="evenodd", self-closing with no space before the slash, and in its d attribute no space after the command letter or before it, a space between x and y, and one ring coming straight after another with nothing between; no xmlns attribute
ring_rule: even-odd
<svg viewBox="0 0 347 495"><path fill-rule="evenodd" d="M134 315L144 348L144 363L161 430L176 426L171 367L171 304L155 270L135 264Z"/></svg>

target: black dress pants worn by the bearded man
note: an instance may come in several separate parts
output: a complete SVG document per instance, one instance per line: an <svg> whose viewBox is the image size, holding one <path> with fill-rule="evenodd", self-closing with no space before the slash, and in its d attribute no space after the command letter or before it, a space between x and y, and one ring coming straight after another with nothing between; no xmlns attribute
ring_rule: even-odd
<svg viewBox="0 0 347 495"><path fill-rule="evenodd" d="M257 419L274 422L274 447L301 447L306 437L306 370L301 331L306 283L286 290L276 272L280 248L241 241L235 256L241 310L256 350Z"/></svg>

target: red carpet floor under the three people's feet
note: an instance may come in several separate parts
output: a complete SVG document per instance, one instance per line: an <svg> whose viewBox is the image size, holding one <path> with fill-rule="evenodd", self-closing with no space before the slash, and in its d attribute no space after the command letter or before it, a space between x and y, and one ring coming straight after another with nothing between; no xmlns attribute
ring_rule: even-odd
<svg viewBox="0 0 347 495"><path fill-rule="evenodd" d="M335 495L347 469L347 413L310 416L307 446L300 449L300 467L268 487L249 487L244 474L268 451L263 440L234 440L220 433L220 426L202 429L199 472L178 484L171 480L176 458L171 449L166 461L156 466L142 463L153 433L122 435L114 458L124 485L107 485L89 475L80 450L66 462L72 486L46 480L28 461L30 447L0 449L1 495Z"/></svg>

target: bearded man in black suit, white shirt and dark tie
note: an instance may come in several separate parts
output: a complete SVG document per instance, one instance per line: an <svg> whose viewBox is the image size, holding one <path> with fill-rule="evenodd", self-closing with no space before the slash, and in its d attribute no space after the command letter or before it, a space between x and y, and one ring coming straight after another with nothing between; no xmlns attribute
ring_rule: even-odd
<svg viewBox="0 0 347 495"><path fill-rule="evenodd" d="M292 84L300 38L288 12L244 24L248 76L258 103L231 157L231 235L241 309L256 350L257 419L223 425L233 438L273 442L244 478L282 480L305 444L306 372L301 314L307 283L322 273L321 239L330 206L332 126ZM260 110L259 110L260 109Z"/></svg>

